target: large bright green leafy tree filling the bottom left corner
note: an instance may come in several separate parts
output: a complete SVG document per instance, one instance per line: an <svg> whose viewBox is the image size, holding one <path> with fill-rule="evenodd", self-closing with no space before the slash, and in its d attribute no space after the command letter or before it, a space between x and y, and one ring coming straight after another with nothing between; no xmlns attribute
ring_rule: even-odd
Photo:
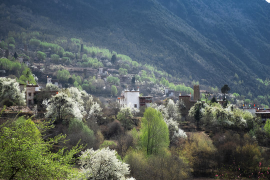
<svg viewBox="0 0 270 180"><path fill-rule="evenodd" d="M0 178L3 179L59 179L67 178L74 172L70 163L73 154L61 148L51 152L52 147L64 136L41 138L37 126L31 119L20 117L14 122L0 125Z"/></svg>

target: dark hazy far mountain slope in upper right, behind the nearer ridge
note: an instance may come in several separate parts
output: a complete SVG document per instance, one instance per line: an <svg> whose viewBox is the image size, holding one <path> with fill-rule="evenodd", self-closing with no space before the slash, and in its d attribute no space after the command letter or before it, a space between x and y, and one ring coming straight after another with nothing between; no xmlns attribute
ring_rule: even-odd
<svg viewBox="0 0 270 180"><path fill-rule="evenodd" d="M253 72L263 75L254 67L270 65L270 4L265 0L158 1L203 36L221 43Z"/></svg>

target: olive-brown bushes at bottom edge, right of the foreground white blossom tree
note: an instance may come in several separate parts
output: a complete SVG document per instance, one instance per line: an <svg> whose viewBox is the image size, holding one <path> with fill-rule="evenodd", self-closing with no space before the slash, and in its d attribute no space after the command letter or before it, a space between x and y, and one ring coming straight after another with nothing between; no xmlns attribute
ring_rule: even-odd
<svg viewBox="0 0 270 180"><path fill-rule="evenodd" d="M189 179L191 171L183 158L169 151L145 156L140 150L130 149L124 161L129 164L130 175L135 179L184 180Z"/></svg>

